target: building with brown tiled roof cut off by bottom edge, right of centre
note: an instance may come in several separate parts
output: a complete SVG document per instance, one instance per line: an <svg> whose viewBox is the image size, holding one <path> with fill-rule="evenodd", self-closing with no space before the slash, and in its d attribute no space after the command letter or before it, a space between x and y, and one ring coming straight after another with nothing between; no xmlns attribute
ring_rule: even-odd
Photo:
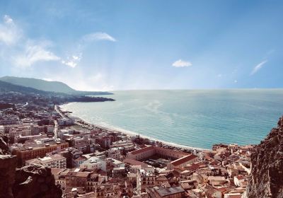
<svg viewBox="0 0 283 198"><path fill-rule="evenodd" d="M146 188L150 198L182 198L185 197L185 190L182 187L161 187L154 186Z"/></svg>

